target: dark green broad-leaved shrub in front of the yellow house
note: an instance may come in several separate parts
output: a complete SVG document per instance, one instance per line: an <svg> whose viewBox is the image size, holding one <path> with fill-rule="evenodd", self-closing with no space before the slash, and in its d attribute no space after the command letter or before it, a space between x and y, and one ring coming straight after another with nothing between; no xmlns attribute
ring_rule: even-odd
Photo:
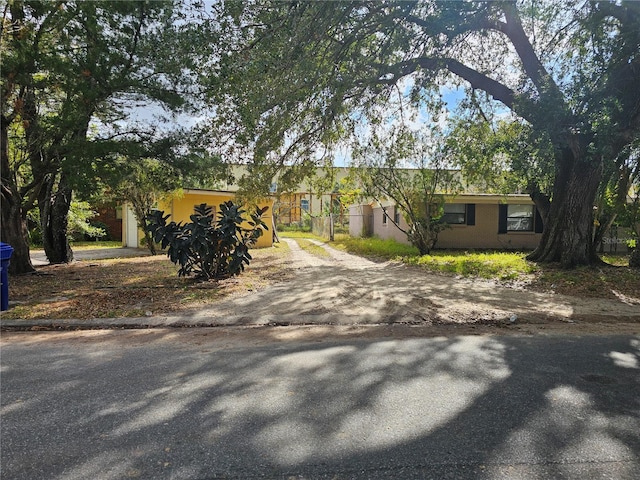
<svg viewBox="0 0 640 480"><path fill-rule="evenodd" d="M147 221L148 229L156 243L169 247L167 255L180 265L179 276L194 274L197 278L224 279L239 275L249 265L249 247L267 230L262 214L268 207L256 207L243 227L243 214L238 205L228 201L220 205L217 220L213 209L206 204L195 208L191 222L166 223L169 215L154 211Z"/></svg>

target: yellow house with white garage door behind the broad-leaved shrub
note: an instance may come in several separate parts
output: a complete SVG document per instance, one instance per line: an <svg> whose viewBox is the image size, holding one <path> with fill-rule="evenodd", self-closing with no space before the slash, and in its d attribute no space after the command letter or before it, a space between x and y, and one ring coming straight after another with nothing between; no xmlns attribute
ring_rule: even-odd
<svg viewBox="0 0 640 480"><path fill-rule="evenodd" d="M190 222L190 216L194 213L194 207L205 203L214 208L217 212L219 205L229 200L234 200L235 193L221 190L198 190L187 189L183 191L183 195L169 200L167 202L159 202L158 209L171 215L167 221L176 223ZM267 225L269 230L262 235L256 243L257 248L271 247L273 245L273 200L265 199L260 202L260 207L269 207L262 215L262 221ZM248 216L248 215L247 215ZM122 246L123 247L142 247L144 233L138 228L135 215L130 206L123 206L122 215Z"/></svg>

